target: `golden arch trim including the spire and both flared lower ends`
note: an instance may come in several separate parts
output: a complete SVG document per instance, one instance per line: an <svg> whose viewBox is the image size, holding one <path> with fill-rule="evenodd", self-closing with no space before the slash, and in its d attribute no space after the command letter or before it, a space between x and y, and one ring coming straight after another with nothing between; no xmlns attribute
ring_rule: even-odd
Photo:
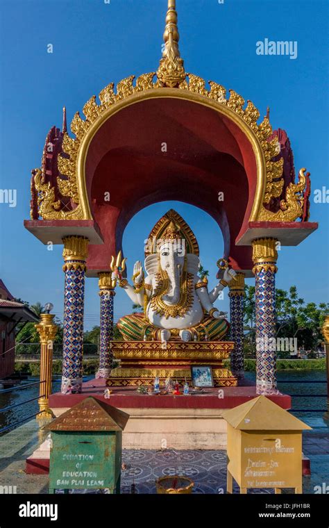
<svg viewBox="0 0 329 528"><path fill-rule="evenodd" d="M286 199L281 201L280 211L272 213L264 208L272 198L280 197L284 185L282 178L283 159L272 161L278 155L278 139L268 141L272 135L269 115L258 124L260 112L251 101L247 101L234 90L205 80L194 74L186 74L183 59L178 49L179 33L177 26L176 1L168 0L168 10L164 33L165 49L160 60L157 74L150 72L139 76L133 84L135 76L130 75L117 84L110 83L99 94L100 104L96 96L92 96L83 106L83 119L79 113L71 122L71 132L76 136L70 138L65 133L62 143L63 155L58 156L58 167L61 176L58 177L58 188L64 197L69 197L78 207L73 211L59 211L59 201L55 201L55 192L50 184L42 181L42 175L36 176L37 192L40 196L39 211L44 220L67 218L90 220L92 214L85 185L85 158L90 142L106 119L112 117L122 108L142 100L171 97L185 99L197 104L208 106L231 119L242 130L251 143L257 165L257 185L253 208L249 222L256 220L294 221L301 214L303 197L301 194L305 184L300 181L290 184ZM156 75L155 80L154 77ZM66 127L65 127L66 128ZM63 129L65 131L65 129Z"/></svg>

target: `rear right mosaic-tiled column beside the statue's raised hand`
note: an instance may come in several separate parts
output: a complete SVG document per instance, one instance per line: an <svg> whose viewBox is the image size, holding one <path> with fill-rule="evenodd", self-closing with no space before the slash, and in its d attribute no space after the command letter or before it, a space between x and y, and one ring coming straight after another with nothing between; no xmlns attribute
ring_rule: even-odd
<svg viewBox="0 0 329 528"><path fill-rule="evenodd" d="M237 273L230 281L230 338L235 347L230 356L230 368L238 379L244 377L244 274Z"/></svg>

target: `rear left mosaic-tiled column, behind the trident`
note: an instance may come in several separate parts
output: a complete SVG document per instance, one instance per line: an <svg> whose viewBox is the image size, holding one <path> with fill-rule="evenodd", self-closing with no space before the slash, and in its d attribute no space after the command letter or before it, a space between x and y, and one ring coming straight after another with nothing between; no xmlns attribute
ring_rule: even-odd
<svg viewBox="0 0 329 528"><path fill-rule="evenodd" d="M99 295L101 297L101 317L99 336L99 370L96 378L108 378L112 368L111 345L113 340L113 304L115 298L112 273L99 273Z"/></svg>

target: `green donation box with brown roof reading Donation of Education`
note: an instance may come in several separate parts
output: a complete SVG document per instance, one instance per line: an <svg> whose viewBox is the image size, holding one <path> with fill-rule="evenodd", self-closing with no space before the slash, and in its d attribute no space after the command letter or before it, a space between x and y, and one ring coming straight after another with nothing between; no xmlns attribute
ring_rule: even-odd
<svg viewBox="0 0 329 528"><path fill-rule="evenodd" d="M120 493L122 431L129 415L93 397L75 405L51 431L49 493L101 489Z"/></svg>

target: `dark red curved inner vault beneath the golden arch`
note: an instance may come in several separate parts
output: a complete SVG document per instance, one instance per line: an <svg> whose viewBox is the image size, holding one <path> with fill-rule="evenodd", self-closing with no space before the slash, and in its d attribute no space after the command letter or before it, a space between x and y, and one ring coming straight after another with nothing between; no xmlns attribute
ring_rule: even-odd
<svg viewBox="0 0 329 528"><path fill-rule="evenodd" d="M194 94L177 97L176 90L175 97L164 97L164 91L173 90L139 97L112 113L81 145L80 190L105 242L90 246L89 274L108 269L137 211L165 200L208 212L221 228L233 267L250 270L250 248L236 247L235 239L260 206L266 184L257 137L251 140L229 108L218 111L214 101L200 104Z"/></svg>

